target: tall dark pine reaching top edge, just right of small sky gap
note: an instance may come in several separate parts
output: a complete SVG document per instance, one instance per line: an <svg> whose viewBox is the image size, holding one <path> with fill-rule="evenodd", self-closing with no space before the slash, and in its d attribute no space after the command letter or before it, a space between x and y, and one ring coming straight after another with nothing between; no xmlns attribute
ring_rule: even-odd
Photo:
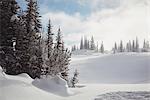
<svg viewBox="0 0 150 100"><path fill-rule="evenodd" d="M27 73L32 77L40 77L42 68L42 54L39 50L38 42L41 38L39 36L40 22L37 10L37 2L34 0L27 1L27 11L26 11L26 29L28 38L28 69Z"/></svg>

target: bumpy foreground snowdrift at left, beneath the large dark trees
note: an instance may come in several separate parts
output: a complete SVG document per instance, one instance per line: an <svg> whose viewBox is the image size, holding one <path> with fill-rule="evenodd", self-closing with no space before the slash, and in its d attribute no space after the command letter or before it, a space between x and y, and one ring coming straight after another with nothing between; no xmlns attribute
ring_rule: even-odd
<svg viewBox="0 0 150 100"><path fill-rule="evenodd" d="M0 100L61 100L72 94L59 76L33 80L25 73L7 75L0 67Z"/></svg>

